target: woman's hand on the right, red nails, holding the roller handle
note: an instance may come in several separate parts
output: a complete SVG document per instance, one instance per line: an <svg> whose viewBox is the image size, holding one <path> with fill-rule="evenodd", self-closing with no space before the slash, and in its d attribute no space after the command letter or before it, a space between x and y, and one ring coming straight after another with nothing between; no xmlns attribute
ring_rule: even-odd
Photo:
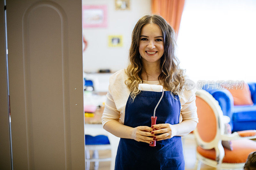
<svg viewBox="0 0 256 170"><path fill-rule="evenodd" d="M156 124L151 126L151 128L156 129L151 132L152 135L155 135L153 140L156 141L170 139L176 135L175 127L169 123ZM159 133L163 134L158 135Z"/></svg>

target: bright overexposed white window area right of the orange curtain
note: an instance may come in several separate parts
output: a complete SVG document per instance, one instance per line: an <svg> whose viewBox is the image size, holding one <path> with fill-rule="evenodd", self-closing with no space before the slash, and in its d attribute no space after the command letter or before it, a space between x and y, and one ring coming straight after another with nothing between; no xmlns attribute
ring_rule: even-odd
<svg viewBox="0 0 256 170"><path fill-rule="evenodd" d="M187 0L178 36L181 67L194 81L255 82L255 21L255 0Z"/></svg>

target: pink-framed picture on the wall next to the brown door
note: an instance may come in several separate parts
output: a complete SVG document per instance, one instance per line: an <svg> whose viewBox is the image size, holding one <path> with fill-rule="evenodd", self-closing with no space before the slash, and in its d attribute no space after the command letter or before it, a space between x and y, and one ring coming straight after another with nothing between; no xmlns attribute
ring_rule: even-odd
<svg viewBox="0 0 256 170"><path fill-rule="evenodd" d="M83 5L83 28L107 27L107 5Z"/></svg>

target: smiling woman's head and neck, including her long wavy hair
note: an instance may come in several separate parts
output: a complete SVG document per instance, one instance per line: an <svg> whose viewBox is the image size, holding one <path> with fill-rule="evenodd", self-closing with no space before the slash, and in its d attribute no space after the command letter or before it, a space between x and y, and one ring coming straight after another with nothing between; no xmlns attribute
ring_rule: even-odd
<svg viewBox="0 0 256 170"><path fill-rule="evenodd" d="M140 82L159 81L166 90L179 94L185 85L184 70L175 55L176 33L159 15L146 15L132 32L132 44L125 81L132 99L139 93ZM148 54L148 52L156 52ZM140 57L138 57L140 56ZM142 57L142 58L141 58Z"/></svg>

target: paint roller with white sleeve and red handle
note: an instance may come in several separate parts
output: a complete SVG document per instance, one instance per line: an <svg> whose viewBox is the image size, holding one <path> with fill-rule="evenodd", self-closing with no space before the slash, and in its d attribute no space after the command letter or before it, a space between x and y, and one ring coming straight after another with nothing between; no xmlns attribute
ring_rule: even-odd
<svg viewBox="0 0 256 170"><path fill-rule="evenodd" d="M149 84L139 84L139 90L142 91L149 91L149 92L162 92L162 96L160 98L160 100L158 101L156 107L159 105L160 101L162 100L163 96L164 96L164 89L162 85L149 85ZM151 126L156 124L156 107L154 110L154 116L151 116ZM149 146L156 146L156 141L153 141L152 144L149 144Z"/></svg>

